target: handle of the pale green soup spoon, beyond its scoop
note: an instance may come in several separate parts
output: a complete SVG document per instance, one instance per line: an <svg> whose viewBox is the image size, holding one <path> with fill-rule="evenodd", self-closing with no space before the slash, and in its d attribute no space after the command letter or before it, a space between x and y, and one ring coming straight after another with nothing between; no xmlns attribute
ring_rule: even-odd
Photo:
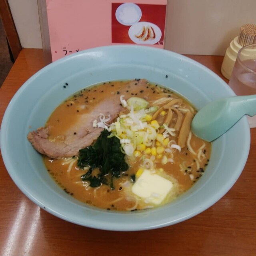
<svg viewBox="0 0 256 256"><path fill-rule="evenodd" d="M256 115L256 95L232 97L232 106L240 107L241 112L248 116Z"/></svg>

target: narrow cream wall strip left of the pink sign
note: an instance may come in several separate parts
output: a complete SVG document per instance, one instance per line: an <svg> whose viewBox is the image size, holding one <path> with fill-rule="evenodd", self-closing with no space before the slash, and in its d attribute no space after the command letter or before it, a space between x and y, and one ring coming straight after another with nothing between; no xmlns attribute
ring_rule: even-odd
<svg viewBox="0 0 256 256"><path fill-rule="evenodd" d="M23 48L42 48L37 0L8 0Z"/></svg>

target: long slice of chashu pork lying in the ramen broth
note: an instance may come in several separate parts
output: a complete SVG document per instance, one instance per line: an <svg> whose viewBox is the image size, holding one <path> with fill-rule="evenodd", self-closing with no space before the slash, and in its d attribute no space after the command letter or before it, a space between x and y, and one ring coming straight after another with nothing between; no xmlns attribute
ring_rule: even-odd
<svg viewBox="0 0 256 256"><path fill-rule="evenodd" d="M132 80L128 88L130 92L136 92L145 89L146 84L147 81L144 79ZM105 116L110 115L111 119L108 121L110 124L118 116L119 112L122 111L120 95L126 90L127 88L120 89L119 95L114 94L111 98L96 105L92 112L82 115L65 135L60 134L60 137L63 137L62 140L49 139L50 129L48 127L40 127L36 131L30 132L28 134L28 140L35 150L50 158L76 156L80 149L91 145L103 130L103 128L94 128L92 126L93 121L100 114L104 114ZM76 130L76 134L74 134L74 130Z"/></svg>

